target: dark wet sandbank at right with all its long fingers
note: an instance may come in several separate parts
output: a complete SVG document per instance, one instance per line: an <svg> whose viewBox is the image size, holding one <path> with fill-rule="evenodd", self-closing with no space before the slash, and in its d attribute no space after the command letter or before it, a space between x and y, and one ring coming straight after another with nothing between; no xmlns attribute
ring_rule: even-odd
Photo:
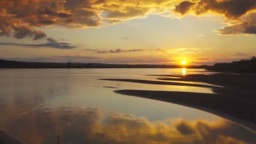
<svg viewBox="0 0 256 144"><path fill-rule="evenodd" d="M134 80L134 79L102 79L133 83L147 83L157 85L183 85L212 88L211 93L191 93L176 91L143 91L117 90L116 93L129 96L138 96L147 99L166 101L187 107L200 109L219 115L241 125L256 130L256 75L255 74L216 74L216 75L154 75L165 76L157 78L165 81ZM178 77L178 78L169 78ZM168 82L177 81L175 82ZM211 85L179 83L178 81L203 82Z"/></svg>

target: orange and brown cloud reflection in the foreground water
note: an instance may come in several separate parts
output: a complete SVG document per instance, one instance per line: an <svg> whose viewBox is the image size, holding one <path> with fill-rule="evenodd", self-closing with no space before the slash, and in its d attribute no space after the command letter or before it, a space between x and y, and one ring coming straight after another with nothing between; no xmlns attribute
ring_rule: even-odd
<svg viewBox="0 0 256 144"><path fill-rule="evenodd" d="M134 115L113 112L104 115L97 108L61 107L46 113L29 111L16 119L8 117L1 126L29 144L53 144L57 135L64 144L240 144L256 141L253 132L223 119L151 122L146 117Z"/></svg>

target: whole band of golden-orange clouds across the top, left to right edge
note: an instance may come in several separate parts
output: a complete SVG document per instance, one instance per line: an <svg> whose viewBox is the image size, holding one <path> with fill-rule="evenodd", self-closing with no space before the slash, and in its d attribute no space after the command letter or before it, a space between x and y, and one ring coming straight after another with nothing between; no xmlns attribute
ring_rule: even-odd
<svg viewBox="0 0 256 144"><path fill-rule="evenodd" d="M34 27L101 27L163 13L218 13L236 21L222 35L255 34L255 0L0 0L0 36L38 40L47 35ZM243 17L243 18L242 18ZM248 19L249 18L249 19ZM242 20L241 20L242 19Z"/></svg>

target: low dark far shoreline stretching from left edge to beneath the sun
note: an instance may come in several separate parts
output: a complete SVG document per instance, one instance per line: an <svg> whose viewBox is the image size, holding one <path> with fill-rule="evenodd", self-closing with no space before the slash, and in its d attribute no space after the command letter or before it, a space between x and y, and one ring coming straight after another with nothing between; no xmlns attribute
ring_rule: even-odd
<svg viewBox="0 0 256 144"><path fill-rule="evenodd" d="M55 63L55 62L27 62L8 61L0 59L0 68L181 68L179 65L152 64L99 64L99 63ZM187 68L203 68L208 66L187 66Z"/></svg>

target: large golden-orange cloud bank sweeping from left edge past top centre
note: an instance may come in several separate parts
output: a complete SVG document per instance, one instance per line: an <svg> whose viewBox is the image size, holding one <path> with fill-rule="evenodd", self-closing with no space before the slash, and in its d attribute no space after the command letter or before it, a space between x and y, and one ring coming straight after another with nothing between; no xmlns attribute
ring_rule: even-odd
<svg viewBox="0 0 256 144"><path fill-rule="evenodd" d="M0 36L46 37L34 27L100 27L169 10L180 0L0 0ZM104 23L103 23L104 22Z"/></svg>

